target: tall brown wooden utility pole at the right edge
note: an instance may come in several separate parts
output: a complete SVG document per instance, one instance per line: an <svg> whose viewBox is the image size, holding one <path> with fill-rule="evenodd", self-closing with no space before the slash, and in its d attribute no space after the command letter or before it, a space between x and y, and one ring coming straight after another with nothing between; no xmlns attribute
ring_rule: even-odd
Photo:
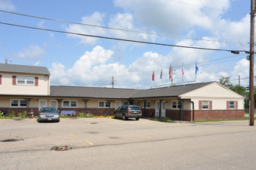
<svg viewBox="0 0 256 170"><path fill-rule="evenodd" d="M250 115L249 125L254 126L254 14L255 0L251 0L251 35L250 35Z"/></svg>

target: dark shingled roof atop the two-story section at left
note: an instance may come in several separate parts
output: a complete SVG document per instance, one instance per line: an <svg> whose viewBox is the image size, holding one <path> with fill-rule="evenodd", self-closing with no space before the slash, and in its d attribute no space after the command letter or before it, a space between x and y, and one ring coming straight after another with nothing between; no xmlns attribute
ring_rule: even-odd
<svg viewBox="0 0 256 170"><path fill-rule="evenodd" d="M50 75L49 70L45 66L25 66L0 63L0 71L5 73L29 73Z"/></svg>

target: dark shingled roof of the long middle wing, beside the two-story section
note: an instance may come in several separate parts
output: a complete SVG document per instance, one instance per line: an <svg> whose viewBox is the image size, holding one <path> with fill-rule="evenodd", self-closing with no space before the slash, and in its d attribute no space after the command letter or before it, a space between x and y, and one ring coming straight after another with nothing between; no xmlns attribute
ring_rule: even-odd
<svg viewBox="0 0 256 170"><path fill-rule="evenodd" d="M116 98L129 99L140 90L117 89L104 87L64 87L50 86L51 97L92 97L92 98Z"/></svg>

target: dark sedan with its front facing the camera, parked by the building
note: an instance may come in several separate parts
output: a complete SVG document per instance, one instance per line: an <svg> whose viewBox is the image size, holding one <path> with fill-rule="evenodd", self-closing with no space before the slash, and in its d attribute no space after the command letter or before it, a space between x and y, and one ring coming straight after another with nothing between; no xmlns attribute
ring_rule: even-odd
<svg viewBox="0 0 256 170"><path fill-rule="evenodd" d="M54 107L42 107L39 111L38 121L60 121L60 114Z"/></svg>

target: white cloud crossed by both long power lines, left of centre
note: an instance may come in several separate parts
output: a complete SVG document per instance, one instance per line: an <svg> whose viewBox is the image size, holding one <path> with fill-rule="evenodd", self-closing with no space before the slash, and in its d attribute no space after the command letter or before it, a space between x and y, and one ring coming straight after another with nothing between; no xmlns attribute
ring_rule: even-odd
<svg viewBox="0 0 256 170"><path fill-rule="evenodd" d="M105 18L105 14L100 12L94 12L92 15L88 15L81 18L81 23L84 24L91 24L96 26L102 26L103 25L103 19ZM94 35L94 36L100 36L105 35L106 32L102 28L92 27L92 26L81 26L72 24L66 28L67 32L76 32L81 34L88 34L88 35ZM73 38L78 38L81 40L81 43L84 44L95 44L97 41L97 38L92 38L88 36L75 36L75 35L68 35Z"/></svg>

